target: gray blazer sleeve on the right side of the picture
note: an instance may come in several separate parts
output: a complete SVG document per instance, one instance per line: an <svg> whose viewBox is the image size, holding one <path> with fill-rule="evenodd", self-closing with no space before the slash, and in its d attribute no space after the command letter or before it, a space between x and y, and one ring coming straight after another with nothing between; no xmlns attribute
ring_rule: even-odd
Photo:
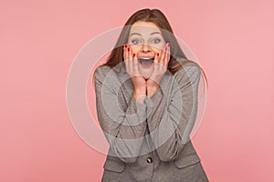
<svg viewBox="0 0 274 182"><path fill-rule="evenodd" d="M163 161L174 160L190 140L200 75L198 67L185 66L174 74L170 96L164 95L160 83L153 96L145 99L153 145Z"/></svg>

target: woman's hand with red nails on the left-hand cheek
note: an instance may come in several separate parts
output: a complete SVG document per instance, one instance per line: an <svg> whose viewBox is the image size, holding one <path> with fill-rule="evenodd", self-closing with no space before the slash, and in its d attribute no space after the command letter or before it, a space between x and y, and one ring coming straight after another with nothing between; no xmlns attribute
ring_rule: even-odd
<svg viewBox="0 0 274 182"><path fill-rule="evenodd" d="M138 60L135 54L132 55L132 50L129 45L123 45L123 59L127 73L131 76L134 86L134 98L143 103L146 96L146 81L139 72Z"/></svg>

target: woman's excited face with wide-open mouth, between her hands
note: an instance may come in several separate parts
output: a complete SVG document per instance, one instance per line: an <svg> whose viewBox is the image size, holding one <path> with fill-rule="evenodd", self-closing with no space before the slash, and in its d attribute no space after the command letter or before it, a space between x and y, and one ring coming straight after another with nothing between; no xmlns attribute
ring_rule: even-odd
<svg viewBox="0 0 274 182"><path fill-rule="evenodd" d="M157 53L161 55L166 44L160 28L152 22L136 22L132 25L128 40L132 54L138 58L140 74L145 79L149 78L153 73L154 56Z"/></svg>

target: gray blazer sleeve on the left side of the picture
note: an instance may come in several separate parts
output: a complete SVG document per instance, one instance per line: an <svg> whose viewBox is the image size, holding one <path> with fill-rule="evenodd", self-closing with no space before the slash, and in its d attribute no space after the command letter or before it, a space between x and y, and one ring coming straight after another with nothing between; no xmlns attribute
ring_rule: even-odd
<svg viewBox="0 0 274 182"><path fill-rule="evenodd" d="M146 129L146 105L132 96L127 109L119 105L120 83L111 68L99 67L95 71L97 114L101 129L110 144L111 156L122 161L136 161ZM106 73L106 71L108 73Z"/></svg>

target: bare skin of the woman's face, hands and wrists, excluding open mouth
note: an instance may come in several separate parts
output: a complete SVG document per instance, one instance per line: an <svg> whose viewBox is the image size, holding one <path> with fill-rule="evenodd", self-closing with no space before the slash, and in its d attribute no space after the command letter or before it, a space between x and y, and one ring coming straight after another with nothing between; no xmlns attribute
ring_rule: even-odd
<svg viewBox="0 0 274 182"><path fill-rule="evenodd" d="M132 25L129 42L123 46L123 57L134 86L133 97L138 102L143 104L144 98L153 96L159 88L170 60L169 53L170 45L157 25L141 21ZM154 57L153 65L142 66L138 57Z"/></svg>

